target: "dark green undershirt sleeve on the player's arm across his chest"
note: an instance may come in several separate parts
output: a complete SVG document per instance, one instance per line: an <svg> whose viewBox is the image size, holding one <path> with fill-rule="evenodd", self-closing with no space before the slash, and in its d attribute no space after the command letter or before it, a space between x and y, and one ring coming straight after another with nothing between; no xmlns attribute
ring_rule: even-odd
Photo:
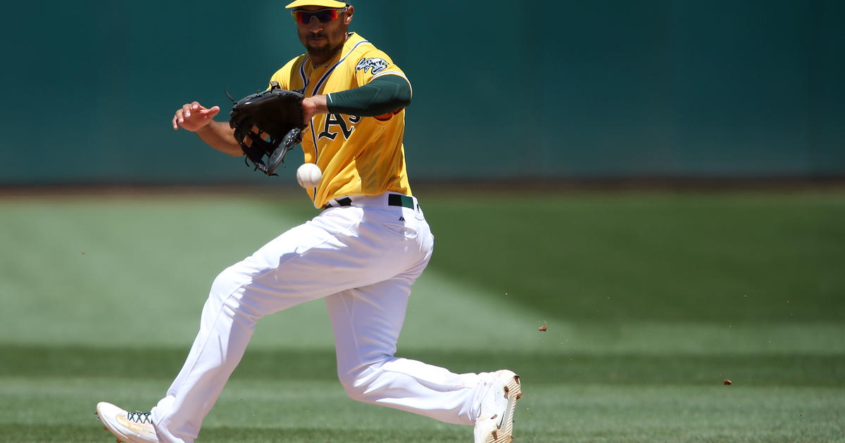
<svg viewBox="0 0 845 443"><path fill-rule="evenodd" d="M383 75L361 87L329 94L326 104L332 114L381 116L411 104L411 85L398 75Z"/></svg>

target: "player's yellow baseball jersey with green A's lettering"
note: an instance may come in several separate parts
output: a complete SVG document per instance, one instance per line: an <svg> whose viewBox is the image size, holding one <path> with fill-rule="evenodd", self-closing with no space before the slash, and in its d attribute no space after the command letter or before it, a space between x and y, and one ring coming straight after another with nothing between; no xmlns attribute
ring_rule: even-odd
<svg viewBox="0 0 845 443"><path fill-rule="evenodd" d="M303 54L287 62L270 81L284 89L304 89L306 97L329 95L330 100L332 92L357 88L383 75L398 75L407 81L387 54L353 32L329 62L315 67L308 54ZM305 161L323 171L319 185L306 190L314 207L323 208L330 200L344 196L388 191L412 195L402 145L404 135L404 109L375 117L313 116L302 147Z"/></svg>

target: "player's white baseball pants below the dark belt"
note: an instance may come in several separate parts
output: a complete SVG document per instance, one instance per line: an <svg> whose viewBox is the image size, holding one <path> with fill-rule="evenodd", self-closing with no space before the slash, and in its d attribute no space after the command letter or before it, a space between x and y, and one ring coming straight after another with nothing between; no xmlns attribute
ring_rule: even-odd
<svg viewBox="0 0 845 443"><path fill-rule="evenodd" d="M387 193L352 197L352 206L325 209L218 275L188 359L151 411L159 440L194 441L259 318L321 298L350 397L473 424L480 375L393 356L411 285L433 251L423 212L409 201L413 208L390 206Z"/></svg>

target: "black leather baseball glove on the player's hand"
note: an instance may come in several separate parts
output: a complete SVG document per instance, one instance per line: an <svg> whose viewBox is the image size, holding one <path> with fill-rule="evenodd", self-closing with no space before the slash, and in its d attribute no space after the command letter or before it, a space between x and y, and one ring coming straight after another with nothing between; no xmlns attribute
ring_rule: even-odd
<svg viewBox="0 0 845 443"><path fill-rule="evenodd" d="M235 139L255 170L275 176L287 151L302 142L303 98L300 91L281 89L275 82L270 83L270 89L241 100L229 96L233 105L229 126L235 130Z"/></svg>

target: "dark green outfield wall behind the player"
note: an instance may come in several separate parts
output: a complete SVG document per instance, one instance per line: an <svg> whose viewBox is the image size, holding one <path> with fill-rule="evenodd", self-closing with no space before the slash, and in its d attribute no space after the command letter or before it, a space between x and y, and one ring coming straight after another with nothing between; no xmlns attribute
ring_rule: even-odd
<svg viewBox="0 0 845 443"><path fill-rule="evenodd" d="M0 184L268 180L171 118L303 51L284 4L7 5ZM353 4L412 80L412 180L845 176L845 2Z"/></svg>

